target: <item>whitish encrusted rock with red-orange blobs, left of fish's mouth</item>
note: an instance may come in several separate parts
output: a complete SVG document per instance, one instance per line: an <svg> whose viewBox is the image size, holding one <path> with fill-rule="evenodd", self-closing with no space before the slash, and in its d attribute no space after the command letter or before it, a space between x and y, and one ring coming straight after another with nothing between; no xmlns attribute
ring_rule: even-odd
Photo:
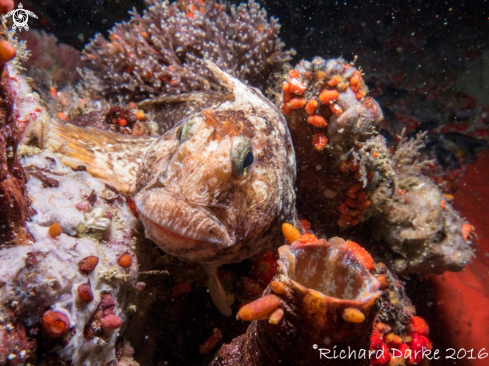
<svg viewBox="0 0 489 366"><path fill-rule="evenodd" d="M62 359L105 364L116 358L118 328L135 293L134 251L142 228L119 192L53 154L26 157L22 164L37 212L28 223L34 243L0 251L0 303L28 326L40 324L41 337L58 339ZM103 211L102 224L90 224L93 214L87 221L94 207L98 216ZM119 263L125 254L132 257L129 266ZM99 308L104 312L94 319ZM91 337L87 327L96 329Z"/></svg>

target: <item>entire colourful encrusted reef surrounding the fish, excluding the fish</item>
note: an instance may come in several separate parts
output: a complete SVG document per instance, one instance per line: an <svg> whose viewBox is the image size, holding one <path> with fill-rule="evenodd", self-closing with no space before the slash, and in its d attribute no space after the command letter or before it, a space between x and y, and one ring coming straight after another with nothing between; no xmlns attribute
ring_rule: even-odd
<svg viewBox="0 0 489 366"><path fill-rule="evenodd" d="M67 84L49 76L49 62L28 72L50 82L29 84L19 67L25 45L6 34L0 41L0 364L308 365L334 347L380 353L338 364L426 363L391 356L432 348L400 276L459 271L473 248L470 224L422 173L423 136L401 135L390 149L361 70L319 57L286 65L291 52L282 50L276 20L254 2L148 5L110 40L98 36L87 46L79 77L70 73L81 60L66 65ZM162 42L179 30L193 47L169 53ZM202 53L216 44L220 53ZM246 52L229 58L238 45ZM66 47L57 52L78 57ZM283 227L289 245L217 273L238 300L233 313L252 322L247 330L213 308L202 266L145 238L127 194L83 165L64 165L44 145L54 119L155 136L225 100L206 59L262 90L278 79L269 108L285 115L298 162L303 220Z"/></svg>

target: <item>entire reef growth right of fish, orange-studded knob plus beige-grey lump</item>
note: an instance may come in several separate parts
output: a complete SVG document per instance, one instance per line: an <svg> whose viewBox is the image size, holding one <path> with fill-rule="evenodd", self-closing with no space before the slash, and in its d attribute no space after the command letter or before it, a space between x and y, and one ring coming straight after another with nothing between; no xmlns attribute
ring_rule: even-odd
<svg viewBox="0 0 489 366"><path fill-rule="evenodd" d="M301 61L281 91L301 162L299 211L314 212L313 223L328 235L358 226L357 235L389 248L379 255L397 272L465 266L472 256L462 230L467 224L422 175L429 163L418 160L423 136L389 150L378 134L382 111L366 96L360 70L342 59Z"/></svg>

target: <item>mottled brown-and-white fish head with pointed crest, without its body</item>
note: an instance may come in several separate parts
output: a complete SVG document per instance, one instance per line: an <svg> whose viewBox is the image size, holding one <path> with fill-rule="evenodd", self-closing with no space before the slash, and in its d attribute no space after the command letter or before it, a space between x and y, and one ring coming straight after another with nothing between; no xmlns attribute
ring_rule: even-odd
<svg viewBox="0 0 489 366"><path fill-rule="evenodd" d="M286 122L259 91L228 77L231 100L150 147L135 196L148 238L181 259L217 265L263 250L295 212Z"/></svg>

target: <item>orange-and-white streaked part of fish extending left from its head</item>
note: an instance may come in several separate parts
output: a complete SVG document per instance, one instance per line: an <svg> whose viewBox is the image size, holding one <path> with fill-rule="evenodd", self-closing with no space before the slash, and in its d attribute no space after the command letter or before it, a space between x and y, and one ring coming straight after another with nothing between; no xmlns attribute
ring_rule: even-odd
<svg viewBox="0 0 489 366"><path fill-rule="evenodd" d="M61 124L52 120L43 145L62 155L71 167L80 165L94 177L120 191L134 193L139 163L156 140L149 136L128 136L91 127Z"/></svg>

